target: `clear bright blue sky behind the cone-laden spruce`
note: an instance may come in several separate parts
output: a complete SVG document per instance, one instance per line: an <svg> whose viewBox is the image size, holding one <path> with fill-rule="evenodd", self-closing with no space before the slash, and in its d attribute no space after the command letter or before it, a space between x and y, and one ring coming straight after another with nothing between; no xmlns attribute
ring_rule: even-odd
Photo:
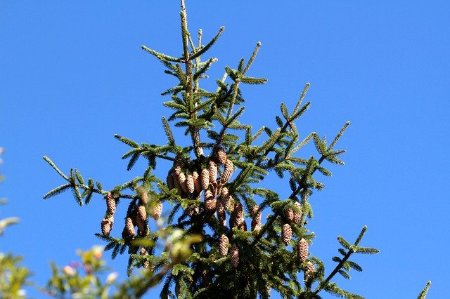
<svg viewBox="0 0 450 299"><path fill-rule="evenodd" d="M311 252L327 272L336 236L352 240L368 225L361 245L381 253L357 258L364 272L338 278L341 286L366 298L416 298L432 280L428 298L445 298L449 1L188 0L187 6L191 32L203 28L205 41L226 27L210 52L219 58L212 79L262 41L249 75L269 82L243 89L241 121L275 126L280 102L292 109L309 81L312 105L297 123L304 135L332 138L352 122L339 144L346 165L331 166L333 178L323 179L325 190L311 198L309 228L317 236ZM127 147L113 134L165 142L160 117L170 112L160 92L175 81L140 46L181 53L179 1L1 1L0 44L0 146L6 150L0 195L10 201L0 218L21 218L1 237L0 249L25 255L43 285L49 260L67 265L77 248L102 244L94 233L105 207L95 197L80 208L70 193L44 201L62 180L42 156L105 188L139 175L143 164L127 172L120 160ZM279 192L287 186L273 185ZM122 278L125 263L110 263Z"/></svg>

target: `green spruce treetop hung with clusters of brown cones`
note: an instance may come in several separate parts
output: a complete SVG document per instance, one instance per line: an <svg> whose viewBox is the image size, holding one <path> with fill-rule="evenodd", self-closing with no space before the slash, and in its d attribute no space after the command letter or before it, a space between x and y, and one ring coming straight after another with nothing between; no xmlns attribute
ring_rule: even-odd
<svg viewBox="0 0 450 299"><path fill-rule="evenodd" d="M167 143L139 143L115 135L130 147L122 156L129 161L127 170L139 158L148 166L141 176L110 190L91 178L84 180L76 168L65 174L44 157L65 180L44 199L72 190L83 206L94 194L103 197L105 213L98 217L96 236L106 242L105 251L112 251L113 258L129 255L129 274L135 267L147 269L142 279L130 281L136 297L162 284L161 298L268 298L271 290L283 298L320 298L323 291L362 298L333 279L336 274L349 279L350 270L362 271L352 261L354 254L378 253L361 242L367 227L354 242L338 237L335 266L326 271L323 261L312 254L314 234L307 226L313 217L311 195L324 187L317 177L331 175L326 163L344 164L340 156L345 150L336 145L349 122L331 142L315 132L300 135L295 121L310 106L304 102L306 84L293 108L281 103L274 126L254 130L242 124L241 88L266 82L248 75L261 44L247 61L242 58L236 67L225 67L224 76L215 81L217 88L207 91L200 82L217 60L203 58L224 27L203 44L201 29L196 41L188 31L184 0L180 16L181 57L142 46L176 79L175 86L162 92L167 96L163 105L172 109L169 117L162 117ZM182 130L188 142L182 134L174 134L175 129ZM309 142L317 154L299 157L298 151ZM170 163L167 178L153 174L161 160ZM262 181L270 171L285 180L288 197L264 187ZM117 208L127 210L124 219L115 218ZM155 251L158 244L162 253Z"/></svg>

